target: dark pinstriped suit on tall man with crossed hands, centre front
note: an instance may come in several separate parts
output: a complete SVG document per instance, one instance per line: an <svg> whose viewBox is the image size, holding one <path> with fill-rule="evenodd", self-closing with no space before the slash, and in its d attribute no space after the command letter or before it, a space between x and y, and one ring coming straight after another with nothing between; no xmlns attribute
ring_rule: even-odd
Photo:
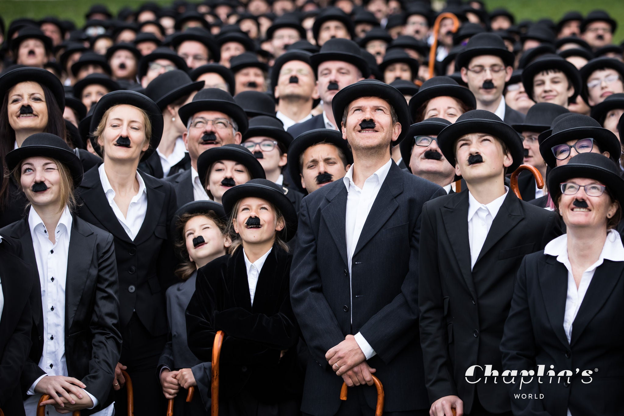
<svg viewBox="0 0 624 416"><path fill-rule="evenodd" d="M418 250L422 205L446 192L392 162L355 248L349 289L342 180L303 198L291 268L291 299L310 349L301 410L334 415L343 379L326 352L361 332L386 391L386 412L428 409L418 337ZM353 293L353 297L351 296ZM351 314L353 313L353 324ZM375 407L373 386L358 387Z"/></svg>

